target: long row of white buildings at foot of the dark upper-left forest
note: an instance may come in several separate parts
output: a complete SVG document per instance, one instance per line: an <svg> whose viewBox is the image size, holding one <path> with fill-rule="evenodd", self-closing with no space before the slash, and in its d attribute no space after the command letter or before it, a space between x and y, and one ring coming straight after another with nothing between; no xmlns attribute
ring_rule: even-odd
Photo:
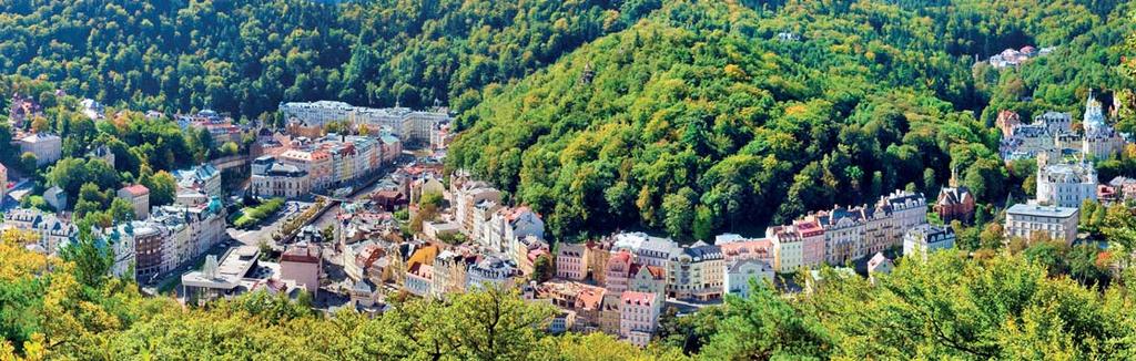
<svg viewBox="0 0 1136 361"><path fill-rule="evenodd" d="M445 108L420 111L395 106L394 108L356 107L341 101L285 102L279 104L284 118L298 127L323 127L329 121L348 121L366 126L373 132L392 129L407 142L431 142L440 124L452 119ZM449 129L446 128L445 132ZM442 137L444 138L444 136Z"/></svg>

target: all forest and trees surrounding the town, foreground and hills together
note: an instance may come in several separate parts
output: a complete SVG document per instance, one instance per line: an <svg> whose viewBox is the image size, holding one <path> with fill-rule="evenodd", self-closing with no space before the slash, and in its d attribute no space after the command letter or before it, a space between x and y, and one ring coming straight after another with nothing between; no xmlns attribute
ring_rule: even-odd
<svg viewBox="0 0 1136 361"><path fill-rule="evenodd" d="M145 110L279 126L279 102L342 100L449 107L461 134L448 170L532 207L557 242L627 228L683 242L760 236L896 188L933 198L952 175L980 204L955 251L901 259L871 282L826 268L815 292L755 284L749 297L666 316L644 350L545 335L553 311L515 293L399 300L374 319L265 294L185 308L106 277L98 249L44 258L23 247L34 235L5 232L0 360L1133 358L1134 275L1120 269L1136 218L1089 213L1113 252L1008 245L994 220L1030 195L1034 168L1003 162L994 121L1000 110L1078 119L1092 92L1117 109L1118 129L1136 132L1134 10L1118 0L3 1L0 109L11 93L44 106L48 119L30 126L66 136L65 159L42 176L76 193L102 179L172 191L164 170L237 146ZM1027 45L1052 52L985 62ZM124 111L95 124L65 110L81 98ZM0 160L20 165L6 134ZM90 144L127 161L66 159ZM34 159L20 167L34 173ZM1097 167L1102 179L1134 175L1136 149ZM86 207L112 221L102 201Z"/></svg>

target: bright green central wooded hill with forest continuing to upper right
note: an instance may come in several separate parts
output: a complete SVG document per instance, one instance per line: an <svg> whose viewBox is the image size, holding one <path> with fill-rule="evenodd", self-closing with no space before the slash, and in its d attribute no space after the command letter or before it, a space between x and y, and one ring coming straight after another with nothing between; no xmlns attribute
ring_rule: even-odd
<svg viewBox="0 0 1136 361"><path fill-rule="evenodd" d="M1029 173L1003 167L993 115L1079 116L1089 89L1127 89L1114 69L1129 9L670 1L486 90L449 165L532 204L562 240L636 224L686 240L763 229L895 188L934 196L952 169L1002 203ZM974 61L1035 44L1056 50L1019 68Z"/></svg>

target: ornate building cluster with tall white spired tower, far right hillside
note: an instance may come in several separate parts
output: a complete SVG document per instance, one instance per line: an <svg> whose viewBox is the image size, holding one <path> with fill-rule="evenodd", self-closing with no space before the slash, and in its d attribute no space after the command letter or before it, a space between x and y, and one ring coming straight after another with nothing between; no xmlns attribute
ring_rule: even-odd
<svg viewBox="0 0 1136 361"><path fill-rule="evenodd" d="M1108 159L1128 143L1122 134L1108 124L1101 102L1092 93L1085 104L1083 132L1072 131L1072 116L1047 111L1022 124L1020 116L1003 110L995 121L1002 132L1000 152L1006 161L1033 159L1047 154L1051 159L1076 157L1087 160Z"/></svg>

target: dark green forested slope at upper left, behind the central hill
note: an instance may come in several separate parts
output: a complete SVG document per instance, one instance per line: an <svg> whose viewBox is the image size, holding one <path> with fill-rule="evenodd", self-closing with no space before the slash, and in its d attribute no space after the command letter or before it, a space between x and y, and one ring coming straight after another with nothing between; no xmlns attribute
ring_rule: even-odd
<svg viewBox="0 0 1136 361"><path fill-rule="evenodd" d="M0 2L0 73L108 104L254 118L281 101L459 108L658 1Z"/></svg>

